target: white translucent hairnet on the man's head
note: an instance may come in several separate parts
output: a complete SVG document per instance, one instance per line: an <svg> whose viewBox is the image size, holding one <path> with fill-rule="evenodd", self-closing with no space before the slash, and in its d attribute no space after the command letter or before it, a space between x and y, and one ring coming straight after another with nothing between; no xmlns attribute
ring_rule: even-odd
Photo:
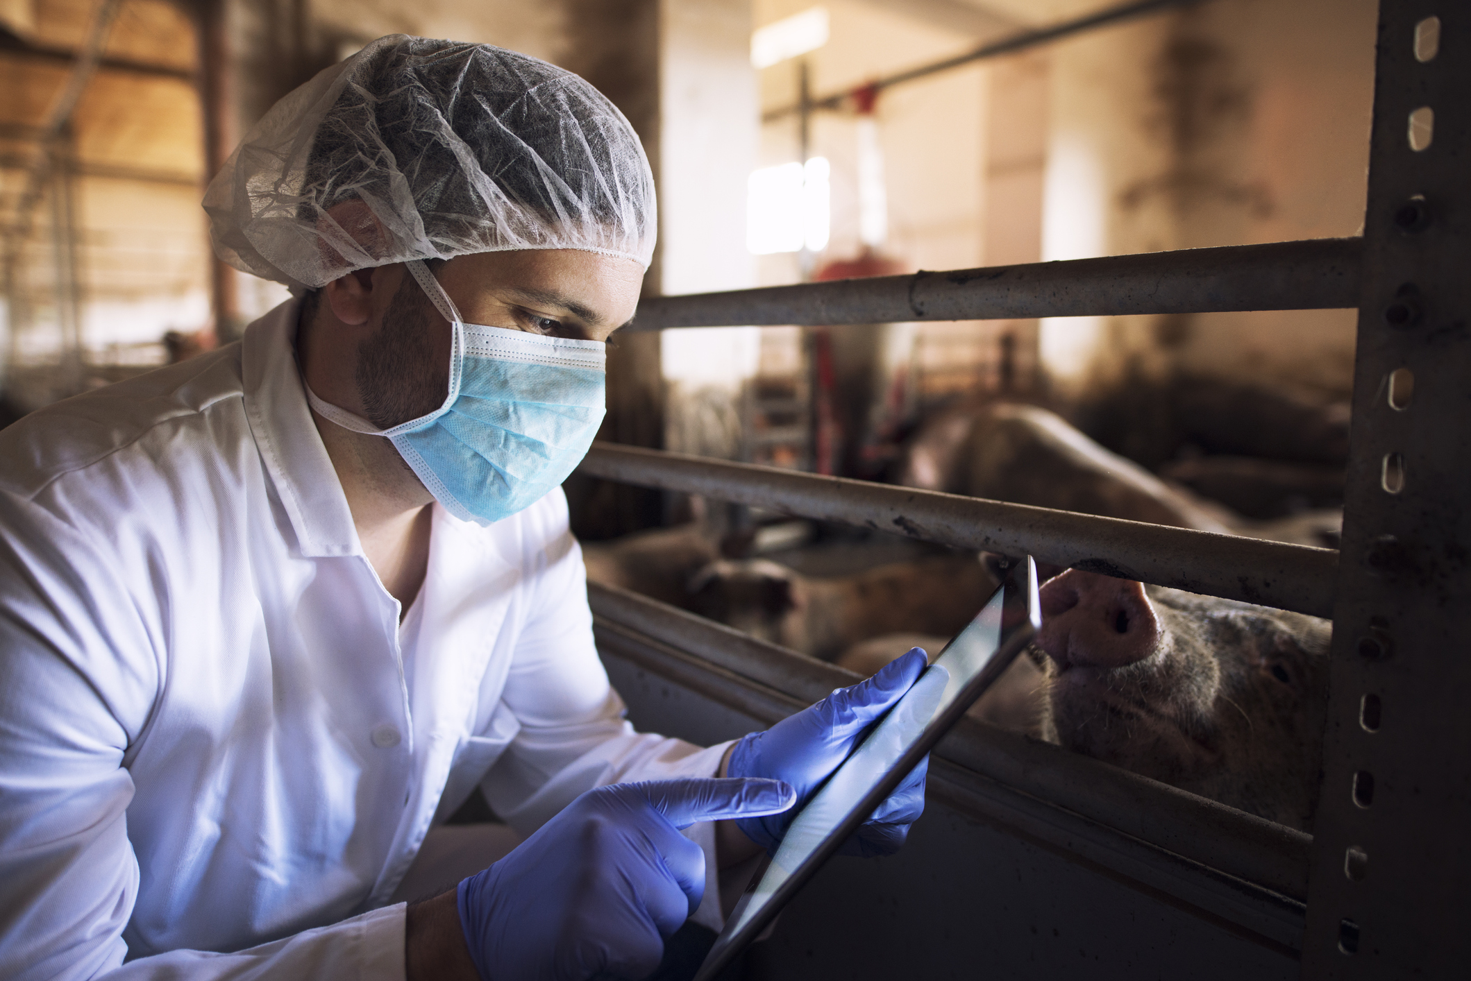
<svg viewBox="0 0 1471 981"><path fill-rule="evenodd" d="M509 249L653 257L653 175L585 81L491 47L391 34L271 107L204 193L237 269L353 269Z"/></svg>

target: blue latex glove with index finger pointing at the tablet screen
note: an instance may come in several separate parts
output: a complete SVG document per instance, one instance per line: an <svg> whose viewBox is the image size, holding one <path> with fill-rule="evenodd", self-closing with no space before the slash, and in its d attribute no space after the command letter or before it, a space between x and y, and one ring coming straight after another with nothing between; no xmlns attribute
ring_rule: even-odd
<svg viewBox="0 0 1471 981"><path fill-rule="evenodd" d="M515 852L459 884L460 927L484 981L647 977L705 897L697 821L796 800L775 780L666 780L590 790Z"/></svg>

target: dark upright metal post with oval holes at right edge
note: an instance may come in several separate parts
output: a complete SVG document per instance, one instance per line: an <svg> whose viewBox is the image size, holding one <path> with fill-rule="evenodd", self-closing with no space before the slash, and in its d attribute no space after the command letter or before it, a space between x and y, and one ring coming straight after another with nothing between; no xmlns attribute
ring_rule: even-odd
<svg viewBox="0 0 1471 981"><path fill-rule="evenodd" d="M1465 3L1381 3L1362 268L1302 977L1464 978L1471 972Z"/></svg>

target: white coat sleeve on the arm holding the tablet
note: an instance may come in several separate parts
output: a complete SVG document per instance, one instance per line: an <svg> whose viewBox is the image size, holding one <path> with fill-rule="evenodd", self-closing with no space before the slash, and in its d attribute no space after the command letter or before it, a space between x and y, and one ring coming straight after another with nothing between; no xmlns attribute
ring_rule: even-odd
<svg viewBox="0 0 1471 981"><path fill-rule="evenodd" d="M565 524L546 550L537 603L516 644L502 703L521 724L481 784L485 799L522 835L546 824L578 794L605 784L715 777L730 743L700 749L684 740L635 732L593 644L583 553ZM705 902L696 922L722 925L715 825L685 831L706 857Z"/></svg>

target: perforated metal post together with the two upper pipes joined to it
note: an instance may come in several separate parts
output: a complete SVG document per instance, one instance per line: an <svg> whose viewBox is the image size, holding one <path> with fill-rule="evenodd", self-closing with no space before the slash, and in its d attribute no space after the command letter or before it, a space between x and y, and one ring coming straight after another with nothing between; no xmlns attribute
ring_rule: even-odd
<svg viewBox="0 0 1471 981"><path fill-rule="evenodd" d="M641 304L633 328L1356 306L1342 552L630 447L596 447L584 469L1331 613L1330 721L1302 977L1455 977L1465 962L1459 928L1471 919L1471 853L1458 847L1471 827L1464 704L1471 659L1462 653L1471 634L1467 50L1471 16L1461 7L1383 0L1362 240L662 297ZM603 604L618 616L616 603Z"/></svg>

